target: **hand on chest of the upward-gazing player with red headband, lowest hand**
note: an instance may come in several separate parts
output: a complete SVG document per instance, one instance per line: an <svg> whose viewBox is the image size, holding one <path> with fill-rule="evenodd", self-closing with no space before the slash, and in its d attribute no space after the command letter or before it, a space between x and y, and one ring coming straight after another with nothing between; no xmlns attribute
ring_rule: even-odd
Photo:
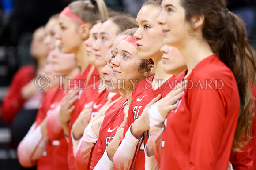
<svg viewBox="0 0 256 170"><path fill-rule="evenodd" d="M118 127L117 132L114 136L114 138L112 139L112 141L109 143L109 146L107 148L107 154L109 159L113 162L113 157L117 151L118 145L123 137L123 133L124 133L124 125L127 121L127 117L124 117L124 121L123 123L121 123L120 127Z"/></svg>

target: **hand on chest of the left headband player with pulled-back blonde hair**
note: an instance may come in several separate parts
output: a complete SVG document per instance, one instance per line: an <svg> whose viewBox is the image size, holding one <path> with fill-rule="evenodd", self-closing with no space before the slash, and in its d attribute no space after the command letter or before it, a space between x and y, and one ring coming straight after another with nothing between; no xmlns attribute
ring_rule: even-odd
<svg viewBox="0 0 256 170"><path fill-rule="evenodd" d="M61 108L59 114L59 121L61 124L67 124L71 113L74 111L75 106L73 105L78 98L79 90L69 90L61 100Z"/></svg>

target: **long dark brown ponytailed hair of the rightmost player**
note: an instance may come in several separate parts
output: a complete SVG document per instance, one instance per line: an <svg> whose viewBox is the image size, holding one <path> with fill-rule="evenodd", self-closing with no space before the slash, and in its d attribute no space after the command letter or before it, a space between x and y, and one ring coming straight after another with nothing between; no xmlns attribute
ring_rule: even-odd
<svg viewBox="0 0 256 170"><path fill-rule="evenodd" d="M241 151L252 137L254 103L251 88L256 76L254 53L247 40L245 25L226 9L222 0L181 0L181 6L186 11L188 22L192 16L204 15L203 38L236 78L240 112L232 149Z"/></svg>

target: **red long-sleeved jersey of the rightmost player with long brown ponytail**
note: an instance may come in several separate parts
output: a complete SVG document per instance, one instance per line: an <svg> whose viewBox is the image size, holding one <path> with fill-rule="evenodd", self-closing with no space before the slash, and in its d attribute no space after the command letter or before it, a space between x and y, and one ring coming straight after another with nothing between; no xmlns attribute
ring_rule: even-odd
<svg viewBox="0 0 256 170"><path fill-rule="evenodd" d="M165 121L161 170L227 170L240 106L233 73L212 55L187 79L187 90Z"/></svg>

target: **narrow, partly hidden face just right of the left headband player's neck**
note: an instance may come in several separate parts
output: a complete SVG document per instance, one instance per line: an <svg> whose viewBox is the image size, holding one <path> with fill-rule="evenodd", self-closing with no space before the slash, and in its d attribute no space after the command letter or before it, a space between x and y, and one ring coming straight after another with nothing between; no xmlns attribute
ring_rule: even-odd
<svg viewBox="0 0 256 170"><path fill-rule="evenodd" d="M92 48L92 45L95 43L97 40L97 31L99 27L102 25L101 22L95 24L89 32L89 38L84 42L85 45L87 46L87 57L88 61L91 65L95 65L95 50Z"/></svg>

